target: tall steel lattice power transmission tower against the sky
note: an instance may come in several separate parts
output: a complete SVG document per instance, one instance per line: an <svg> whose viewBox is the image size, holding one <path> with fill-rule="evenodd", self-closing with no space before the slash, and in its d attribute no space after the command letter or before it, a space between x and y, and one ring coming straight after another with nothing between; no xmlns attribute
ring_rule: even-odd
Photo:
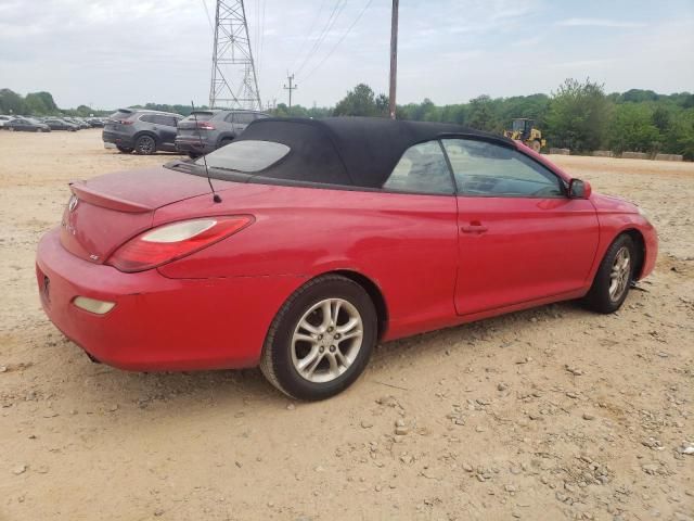
<svg viewBox="0 0 694 521"><path fill-rule="evenodd" d="M209 106L262 110L243 0L217 0Z"/></svg>

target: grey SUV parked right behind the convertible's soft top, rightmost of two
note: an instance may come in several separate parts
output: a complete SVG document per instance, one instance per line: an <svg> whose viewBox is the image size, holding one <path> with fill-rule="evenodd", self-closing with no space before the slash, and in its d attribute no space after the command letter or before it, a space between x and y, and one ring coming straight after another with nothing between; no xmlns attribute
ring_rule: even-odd
<svg viewBox="0 0 694 521"><path fill-rule="evenodd" d="M195 111L178 124L176 150L191 157L207 154L231 143L248 124L266 117L270 116L253 111Z"/></svg>

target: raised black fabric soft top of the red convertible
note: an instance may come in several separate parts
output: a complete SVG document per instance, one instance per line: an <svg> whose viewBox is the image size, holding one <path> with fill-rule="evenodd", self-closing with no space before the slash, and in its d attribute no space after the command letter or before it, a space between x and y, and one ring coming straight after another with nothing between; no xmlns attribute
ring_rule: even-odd
<svg viewBox="0 0 694 521"><path fill-rule="evenodd" d="M291 149L249 182L277 179L381 188L407 149L442 137L468 137L515 148L507 138L459 125L375 117L256 119L236 141L275 141Z"/></svg>

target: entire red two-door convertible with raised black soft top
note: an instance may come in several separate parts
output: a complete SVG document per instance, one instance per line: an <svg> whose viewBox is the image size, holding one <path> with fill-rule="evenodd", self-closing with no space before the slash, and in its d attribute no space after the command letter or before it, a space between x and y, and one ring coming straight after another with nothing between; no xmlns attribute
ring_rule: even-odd
<svg viewBox="0 0 694 521"><path fill-rule="evenodd" d="M70 189L36 266L57 328L123 369L259 365L301 399L381 341L571 298L615 312L657 254L633 204L454 125L261 119Z"/></svg>

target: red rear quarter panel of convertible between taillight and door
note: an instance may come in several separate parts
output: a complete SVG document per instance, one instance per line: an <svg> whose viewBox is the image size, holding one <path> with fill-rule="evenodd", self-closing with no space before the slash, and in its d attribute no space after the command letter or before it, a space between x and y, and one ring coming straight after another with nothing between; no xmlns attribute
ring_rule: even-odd
<svg viewBox="0 0 694 521"><path fill-rule="evenodd" d="M215 214L256 219L237 234L160 267L164 276L293 277L298 288L327 271L350 270L381 289L390 325L454 319L455 198L240 185L222 199L215 204L205 195L156 212L155 225Z"/></svg>

